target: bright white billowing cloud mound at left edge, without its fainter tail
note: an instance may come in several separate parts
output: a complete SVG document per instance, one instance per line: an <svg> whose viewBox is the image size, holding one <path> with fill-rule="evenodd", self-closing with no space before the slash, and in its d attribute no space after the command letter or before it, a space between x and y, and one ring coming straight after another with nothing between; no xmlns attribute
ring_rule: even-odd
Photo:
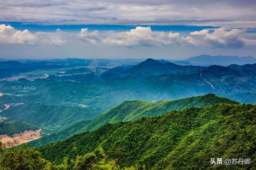
<svg viewBox="0 0 256 170"><path fill-rule="evenodd" d="M0 43L2 44L29 44L35 45L38 39L35 35L30 33L27 29L19 31L14 27L1 24L0 25Z"/></svg>

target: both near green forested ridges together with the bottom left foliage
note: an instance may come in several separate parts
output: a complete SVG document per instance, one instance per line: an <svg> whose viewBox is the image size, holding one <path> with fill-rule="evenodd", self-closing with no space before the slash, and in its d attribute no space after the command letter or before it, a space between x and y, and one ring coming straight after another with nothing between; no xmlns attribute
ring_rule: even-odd
<svg viewBox="0 0 256 170"><path fill-rule="evenodd" d="M132 100L98 117L73 124L57 137L74 135L38 149L5 149L1 143L0 169L256 168L255 104L214 94L174 101ZM88 125L91 129L86 129ZM211 158L250 158L251 163L210 165Z"/></svg>

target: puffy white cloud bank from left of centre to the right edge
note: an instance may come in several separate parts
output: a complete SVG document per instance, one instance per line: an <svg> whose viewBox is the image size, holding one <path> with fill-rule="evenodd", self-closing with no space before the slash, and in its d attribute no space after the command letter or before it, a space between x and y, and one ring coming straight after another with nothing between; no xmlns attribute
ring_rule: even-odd
<svg viewBox="0 0 256 170"><path fill-rule="evenodd" d="M170 46L170 45L190 45L193 47L208 45L220 48L240 48L244 46L256 47L256 40L242 37L246 34L246 29L224 28L191 32L190 35L180 35L180 33L166 33L164 31L152 31L150 27L136 27L130 31L112 33L108 37L100 37L98 31L89 32L82 29L78 37L87 43L94 45L116 45L116 46ZM195 39L193 36L197 36ZM198 37L199 36L199 37Z"/></svg>

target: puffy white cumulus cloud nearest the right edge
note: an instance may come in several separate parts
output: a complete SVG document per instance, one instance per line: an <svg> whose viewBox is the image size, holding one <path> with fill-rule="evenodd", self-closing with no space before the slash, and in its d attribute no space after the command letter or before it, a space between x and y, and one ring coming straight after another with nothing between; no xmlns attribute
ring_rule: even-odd
<svg viewBox="0 0 256 170"><path fill-rule="evenodd" d="M242 34L246 33L246 29L231 29L226 30L223 27L215 29L213 33L208 33L208 30L195 31L190 35L204 35L202 43L213 47L224 48L239 48L243 46L256 46L256 40L245 39Z"/></svg>

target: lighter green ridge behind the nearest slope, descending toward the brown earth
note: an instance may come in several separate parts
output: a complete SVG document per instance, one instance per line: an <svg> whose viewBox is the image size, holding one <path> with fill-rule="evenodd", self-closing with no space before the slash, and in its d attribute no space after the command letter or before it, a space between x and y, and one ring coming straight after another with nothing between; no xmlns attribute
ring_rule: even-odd
<svg viewBox="0 0 256 170"><path fill-rule="evenodd" d="M132 121L140 117L156 116L168 111L178 111L187 107L205 107L213 104L239 104L226 98L220 98L214 94L196 96L174 101L146 102L141 100L125 101L116 107L98 115L89 121L80 121L62 131L42 137L29 143L30 146L42 147L48 143L63 140L74 133L91 131L108 123L119 121Z"/></svg>

